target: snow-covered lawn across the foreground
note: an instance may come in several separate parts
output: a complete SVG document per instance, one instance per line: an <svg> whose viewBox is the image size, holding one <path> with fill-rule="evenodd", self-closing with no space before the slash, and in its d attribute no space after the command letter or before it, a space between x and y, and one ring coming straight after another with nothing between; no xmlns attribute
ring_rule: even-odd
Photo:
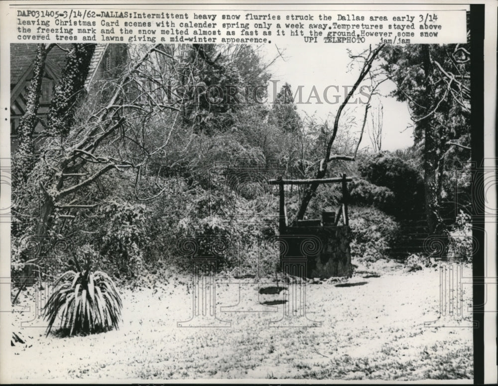
<svg viewBox="0 0 498 386"><path fill-rule="evenodd" d="M463 266L463 281L470 276L470 265ZM202 322L194 318L183 325L230 327L179 328L178 322L189 321L193 315L192 279L170 277L147 287L121 290L124 310L119 330L66 338L45 337L45 323L34 313L34 289L30 288L21 293L19 304L31 306L30 311L11 314L13 331L20 332L26 343L11 347L10 354L3 353L10 372L3 379L471 382L472 310L468 307L472 286L463 284L463 292L456 292L458 281L453 287L448 283L449 279L440 281L437 267L407 272L401 264L385 261L358 267L348 280L315 280L305 285L280 281L275 294L259 293L260 288L276 286L270 279L218 279L219 320L208 314ZM282 286L286 289L281 290ZM304 297L293 298L296 288L305 291L304 301ZM456 300L441 302L440 289ZM289 301L282 304L285 300ZM446 305L446 315L440 313L440 305L443 313ZM304 309L305 317L299 317ZM459 310L462 316L456 315ZM274 323L284 315L292 317ZM285 323L297 327L282 327Z"/></svg>

